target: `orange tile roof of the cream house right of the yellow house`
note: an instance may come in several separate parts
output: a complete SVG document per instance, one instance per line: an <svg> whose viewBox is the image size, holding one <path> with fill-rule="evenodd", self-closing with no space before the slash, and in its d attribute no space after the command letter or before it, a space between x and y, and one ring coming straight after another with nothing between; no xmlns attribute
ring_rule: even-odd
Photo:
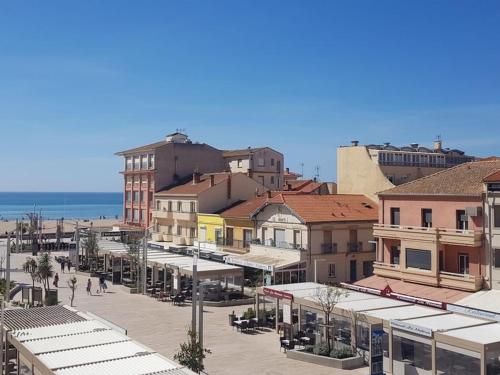
<svg viewBox="0 0 500 375"><path fill-rule="evenodd" d="M285 204L306 223L377 221L378 205L356 194L277 194L268 204Z"/></svg>

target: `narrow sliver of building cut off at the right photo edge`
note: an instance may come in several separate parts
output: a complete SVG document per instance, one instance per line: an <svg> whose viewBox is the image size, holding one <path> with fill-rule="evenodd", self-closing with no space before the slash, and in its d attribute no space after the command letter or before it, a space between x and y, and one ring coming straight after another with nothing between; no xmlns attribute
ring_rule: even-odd
<svg viewBox="0 0 500 375"><path fill-rule="evenodd" d="M484 178L485 236L489 255L491 287L500 289L500 170Z"/></svg>

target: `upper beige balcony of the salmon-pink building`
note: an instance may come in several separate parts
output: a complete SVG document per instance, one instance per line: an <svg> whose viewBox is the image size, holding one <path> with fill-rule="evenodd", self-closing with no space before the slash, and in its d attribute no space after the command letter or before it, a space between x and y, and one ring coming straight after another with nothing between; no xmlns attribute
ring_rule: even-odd
<svg viewBox="0 0 500 375"><path fill-rule="evenodd" d="M395 240L438 241L446 245L470 247L479 247L483 243L483 234L480 231L449 228L374 224L373 235Z"/></svg>

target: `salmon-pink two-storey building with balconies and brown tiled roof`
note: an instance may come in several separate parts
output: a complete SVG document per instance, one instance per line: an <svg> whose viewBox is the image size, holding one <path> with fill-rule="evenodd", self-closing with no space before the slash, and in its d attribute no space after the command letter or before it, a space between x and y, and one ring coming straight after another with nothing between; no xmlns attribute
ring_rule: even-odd
<svg viewBox="0 0 500 375"><path fill-rule="evenodd" d="M379 193L377 262L367 283L378 277L469 292L489 287L483 179L498 169L500 160L461 164Z"/></svg>

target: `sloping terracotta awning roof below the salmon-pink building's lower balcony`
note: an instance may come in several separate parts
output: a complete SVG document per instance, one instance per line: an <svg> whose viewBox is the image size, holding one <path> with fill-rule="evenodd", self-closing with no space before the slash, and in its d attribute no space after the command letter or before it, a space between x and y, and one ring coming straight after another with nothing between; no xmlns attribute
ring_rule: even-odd
<svg viewBox="0 0 500 375"><path fill-rule="evenodd" d="M387 285L389 285L392 291L395 293L405 294L407 296L412 296L412 297L426 298L433 301L448 302L448 303L457 302L473 294L461 290L415 284L402 280L381 277L377 275L356 281L354 284L366 288L373 288L379 290L382 290Z"/></svg>

